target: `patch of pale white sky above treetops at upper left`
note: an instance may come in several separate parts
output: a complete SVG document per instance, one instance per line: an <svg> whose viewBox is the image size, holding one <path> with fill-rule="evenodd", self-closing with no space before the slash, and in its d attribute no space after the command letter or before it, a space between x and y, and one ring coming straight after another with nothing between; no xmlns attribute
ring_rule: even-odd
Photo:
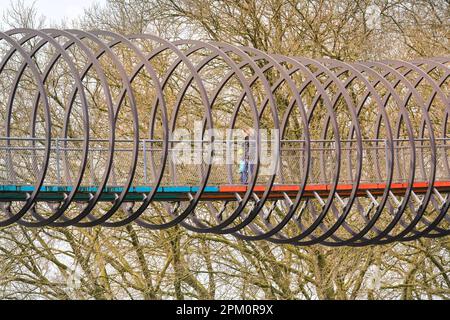
<svg viewBox="0 0 450 320"><path fill-rule="evenodd" d="M61 20L72 20L83 13L93 3L105 3L106 0L25 0L30 5L36 2L39 14L47 17L47 22L60 22ZM3 11L10 6L11 0L0 0L0 18Z"/></svg>

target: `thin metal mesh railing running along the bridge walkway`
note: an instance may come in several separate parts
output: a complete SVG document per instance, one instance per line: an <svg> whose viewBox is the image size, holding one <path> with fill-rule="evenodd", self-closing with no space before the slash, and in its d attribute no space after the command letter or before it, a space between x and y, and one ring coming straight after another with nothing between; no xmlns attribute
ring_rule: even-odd
<svg viewBox="0 0 450 320"><path fill-rule="evenodd" d="M408 182L412 173L415 154L415 181L427 181L433 168L433 148L428 139L415 139L414 149L408 139L362 140L361 183L383 183L393 163L393 181ZM0 184L32 185L43 170L46 155L46 139L0 137ZM243 140L209 141L170 140L164 170L163 185L198 185L208 164L207 155L214 150L208 185L241 184L239 167L244 161ZM393 144L391 155L390 144ZM82 165L82 185L99 185L105 175L109 157L113 158L108 185L126 183L133 166L134 151L137 152L133 185L145 186L155 183L163 159L162 140L116 139L114 150L108 139L91 139L84 156L84 140L56 138L50 140L50 156L45 185L72 185ZM136 150L135 150L136 147ZM351 184L358 175L358 149L356 140L342 140L341 158L333 140L313 140L309 152L304 140L280 140L275 149L263 150L261 154L258 184L266 183L273 174L278 184L300 184L307 174L309 184L333 184L339 166L340 184ZM450 161L450 138L436 139L436 180L448 181ZM307 162L309 155L309 170ZM252 162L252 159L248 159ZM278 166L276 163L278 162Z"/></svg>

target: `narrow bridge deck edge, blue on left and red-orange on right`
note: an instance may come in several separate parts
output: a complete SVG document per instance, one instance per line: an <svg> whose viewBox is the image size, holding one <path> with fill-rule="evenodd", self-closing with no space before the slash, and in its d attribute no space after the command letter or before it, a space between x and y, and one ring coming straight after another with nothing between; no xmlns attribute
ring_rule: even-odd
<svg viewBox="0 0 450 320"><path fill-rule="evenodd" d="M413 184L413 190L416 194L423 194L428 189L427 182L417 182ZM408 188L407 183L394 183L391 185L391 191L395 195L402 195ZM450 181L438 181L434 183L434 188L442 193L450 193ZM305 188L305 198L315 197L315 193L321 197L327 197L332 189L332 185L308 185ZM337 192L341 197L348 197L351 194L353 185L340 184L337 186ZM358 196L367 197L367 191L374 196L379 196L384 193L386 184L371 183L360 184L358 187ZM189 199L189 194L195 194L199 190L198 187L192 186L178 186L178 187L160 187L154 198L155 201L184 201ZM229 200L235 201L236 194L243 196L248 187L245 185L223 185L223 186L208 186L204 190L201 200ZM254 188L254 193L262 196L266 190L266 186L257 185ZM289 197L295 197L300 190L298 185L274 185L270 192L270 199L283 199L285 194ZM25 201L27 195L34 191L33 186L19 186L19 185L2 185L0 186L0 201ZM65 194L72 191L70 186L43 186L38 195L38 201L63 201ZM92 194L98 191L98 187L80 187L75 196L75 201L86 202L89 201ZM152 191L151 187L138 186L129 189L129 193L125 198L127 202L142 201L145 194ZM117 194L123 192L123 187L109 186L103 190L100 198L102 202L114 201Z"/></svg>

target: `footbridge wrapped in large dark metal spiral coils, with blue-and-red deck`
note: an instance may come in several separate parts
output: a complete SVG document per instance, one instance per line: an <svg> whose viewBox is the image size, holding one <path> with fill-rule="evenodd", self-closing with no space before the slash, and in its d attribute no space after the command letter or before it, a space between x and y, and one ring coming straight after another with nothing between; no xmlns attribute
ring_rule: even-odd
<svg viewBox="0 0 450 320"><path fill-rule="evenodd" d="M0 227L364 246L449 234L450 58L0 32Z"/></svg>

